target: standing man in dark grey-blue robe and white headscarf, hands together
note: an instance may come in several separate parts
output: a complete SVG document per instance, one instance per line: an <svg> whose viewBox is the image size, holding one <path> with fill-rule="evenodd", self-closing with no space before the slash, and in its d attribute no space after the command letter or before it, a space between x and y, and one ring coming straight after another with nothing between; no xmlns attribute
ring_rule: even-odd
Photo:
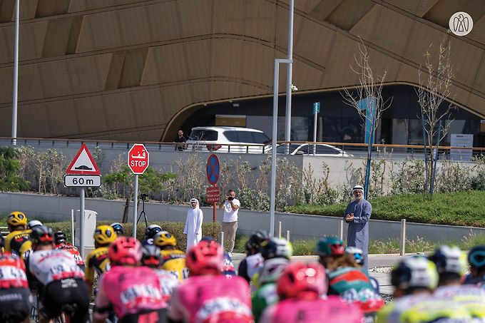
<svg viewBox="0 0 485 323"><path fill-rule="evenodd" d="M349 224L347 230L347 246L358 247L362 250L362 267L367 270L367 254L369 253L369 220L372 205L364 200L364 188L355 185L352 195L355 200L347 205L344 220Z"/></svg>

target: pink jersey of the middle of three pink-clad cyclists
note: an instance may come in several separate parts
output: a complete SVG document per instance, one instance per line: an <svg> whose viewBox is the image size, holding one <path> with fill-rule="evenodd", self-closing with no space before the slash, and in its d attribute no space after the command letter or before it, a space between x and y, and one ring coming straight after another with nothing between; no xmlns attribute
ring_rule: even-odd
<svg viewBox="0 0 485 323"><path fill-rule="evenodd" d="M238 276L194 276L175 289L168 309L175 322L252 322L247 282Z"/></svg>

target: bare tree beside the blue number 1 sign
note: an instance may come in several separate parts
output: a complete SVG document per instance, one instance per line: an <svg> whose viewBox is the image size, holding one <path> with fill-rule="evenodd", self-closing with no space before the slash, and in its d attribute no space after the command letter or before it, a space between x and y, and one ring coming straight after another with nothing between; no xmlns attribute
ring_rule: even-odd
<svg viewBox="0 0 485 323"><path fill-rule="evenodd" d="M387 76L387 70L384 70L382 75L378 75L372 71L372 67L369 63L369 51L364 45L362 39L359 43L359 56L354 56L356 66L350 66L352 71L359 76L359 87L354 91L349 91L348 88L344 88L344 103L352 106L357 110L359 116L364 123L369 125L369 133L367 145L367 163L365 170L364 180L364 197L367 198L369 191L369 176L371 173L370 164L372 161L372 144L375 138L375 131L377 123L382 116L382 113L391 106L392 98L382 98L382 87L384 86L384 80ZM367 104L364 103L364 99L367 99Z"/></svg>

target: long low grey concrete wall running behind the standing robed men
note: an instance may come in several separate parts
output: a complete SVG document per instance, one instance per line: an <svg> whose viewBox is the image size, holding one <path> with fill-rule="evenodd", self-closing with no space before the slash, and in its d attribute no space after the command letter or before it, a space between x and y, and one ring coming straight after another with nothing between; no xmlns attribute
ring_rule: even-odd
<svg viewBox="0 0 485 323"><path fill-rule="evenodd" d="M41 218L51 221L68 221L71 219L71 209L78 210L78 198L57 196L0 193L0 214L6 215L13 210L22 210L30 218ZM98 220L121 220L124 201L86 199L86 210L98 212ZM204 222L213 219L212 207L203 207ZM141 210L141 206L138 208ZM178 221L185 222L188 205L165 205L160 203L146 203L145 210L149 221ZM133 209L130 207L130 219L133 219ZM217 210L218 221L222 219L223 211ZM282 222L282 232L290 230L292 240L322 237L323 235L337 235L340 219L320 215L298 215L277 213L275 215L275 230L277 222ZM143 221L142 221L143 222ZM240 210L238 232L250 234L258 229L269 230L270 215L268 212ZM399 238L400 222L371 220L369 234L372 240L387 240ZM347 227L344 225L344 236ZM407 238L415 240L423 237L425 240L453 241L461 240L464 236L474 233L485 233L485 228L455 227L448 225L429 225L419 223L407 224Z"/></svg>

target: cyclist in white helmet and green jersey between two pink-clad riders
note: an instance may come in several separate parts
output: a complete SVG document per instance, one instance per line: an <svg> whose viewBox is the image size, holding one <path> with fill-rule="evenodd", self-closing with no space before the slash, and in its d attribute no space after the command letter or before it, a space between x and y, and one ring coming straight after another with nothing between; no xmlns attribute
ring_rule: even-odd
<svg viewBox="0 0 485 323"><path fill-rule="evenodd" d="M252 314L258 322L266 307L278 302L276 282L283 270L290 264L286 258L268 259L262 265L257 284L260 286L252 295Z"/></svg>

